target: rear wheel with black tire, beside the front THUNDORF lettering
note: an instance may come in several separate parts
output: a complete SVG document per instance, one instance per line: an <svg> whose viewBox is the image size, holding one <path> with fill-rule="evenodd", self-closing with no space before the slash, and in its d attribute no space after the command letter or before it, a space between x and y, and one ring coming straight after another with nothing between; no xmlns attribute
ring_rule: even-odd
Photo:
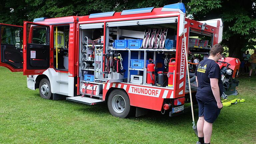
<svg viewBox="0 0 256 144"><path fill-rule="evenodd" d="M117 105L119 102L118 101L115 102L113 106L112 101L114 102L116 101L115 99L122 99L122 98L124 101L123 100L120 101L120 106L122 107L123 105L121 105L121 103L123 104L123 102L125 102L125 107L122 107L122 109L124 109L123 111L121 110L121 108L119 109L120 111L118 111L118 109L116 108L118 107ZM120 89L113 90L108 97L108 110L115 117L126 118L130 116L132 110L131 110L130 99L128 95L123 90L120 90Z"/></svg>

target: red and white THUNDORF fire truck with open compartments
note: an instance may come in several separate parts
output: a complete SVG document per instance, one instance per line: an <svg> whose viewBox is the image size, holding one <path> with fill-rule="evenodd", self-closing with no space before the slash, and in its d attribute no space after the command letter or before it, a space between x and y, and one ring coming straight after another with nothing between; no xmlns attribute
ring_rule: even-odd
<svg viewBox="0 0 256 144"><path fill-rule="evenodd" d="M221 19L186 18L183 3L0 27L0 66L27 75L29 89L45 99L107 102L110 113L122 118L132 109L136 116L148 109L170 116L189 110L185 45L193 77L193 60L207 58L223 29ZM239 59L223 57L218 64L225 94L237 94Z"/></svg>

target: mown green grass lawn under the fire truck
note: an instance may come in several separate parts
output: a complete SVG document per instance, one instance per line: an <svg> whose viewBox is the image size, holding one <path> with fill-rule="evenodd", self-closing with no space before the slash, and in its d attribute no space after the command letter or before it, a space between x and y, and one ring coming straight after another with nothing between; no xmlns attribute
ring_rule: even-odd
<svg viewBox="0 0 256 144"><path fill-rule="evenodd" d="M256 76L241 76L239 97L213 125L212 144L256 143ZM237 96L230 96L229 99ZM198 110L195 110L196 120ZM26 76L0 67L0 143L168 143L195 144L192 117L151 111L127 119L110 115L106 104L89 106L45 100L30 90Z"/></svg>

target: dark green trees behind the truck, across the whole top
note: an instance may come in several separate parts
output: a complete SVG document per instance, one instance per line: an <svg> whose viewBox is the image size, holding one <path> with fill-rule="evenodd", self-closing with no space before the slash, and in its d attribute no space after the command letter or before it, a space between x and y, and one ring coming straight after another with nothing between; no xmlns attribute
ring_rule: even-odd
<svg viewBox="0 0 256 144"><path fill-rule="evenodd" d="M183 2L195 20L222 18L222 45L229 48L230 57L241 57L241 50L255 49L254 0L1 0L0 23L22 25L23 21L33 21L39 17L84 16L125 9L163 7L177 2Z"/></svg>

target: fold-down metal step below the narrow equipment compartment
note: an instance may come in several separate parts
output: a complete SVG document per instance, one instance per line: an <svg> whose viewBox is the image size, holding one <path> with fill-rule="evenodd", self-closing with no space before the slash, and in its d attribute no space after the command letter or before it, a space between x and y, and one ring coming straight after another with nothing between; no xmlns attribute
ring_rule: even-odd
<svg viewBox="0 0 256 144"><path fill-rule="evenodd" d="M105 102L104 100L88 98L88 97L81 97L81 96L68 97L66 99L70 100L70 101L74 101L74 102L88 104L88 105L95 105L95 104L100 104L100 103L104 103Z"/></svg>

